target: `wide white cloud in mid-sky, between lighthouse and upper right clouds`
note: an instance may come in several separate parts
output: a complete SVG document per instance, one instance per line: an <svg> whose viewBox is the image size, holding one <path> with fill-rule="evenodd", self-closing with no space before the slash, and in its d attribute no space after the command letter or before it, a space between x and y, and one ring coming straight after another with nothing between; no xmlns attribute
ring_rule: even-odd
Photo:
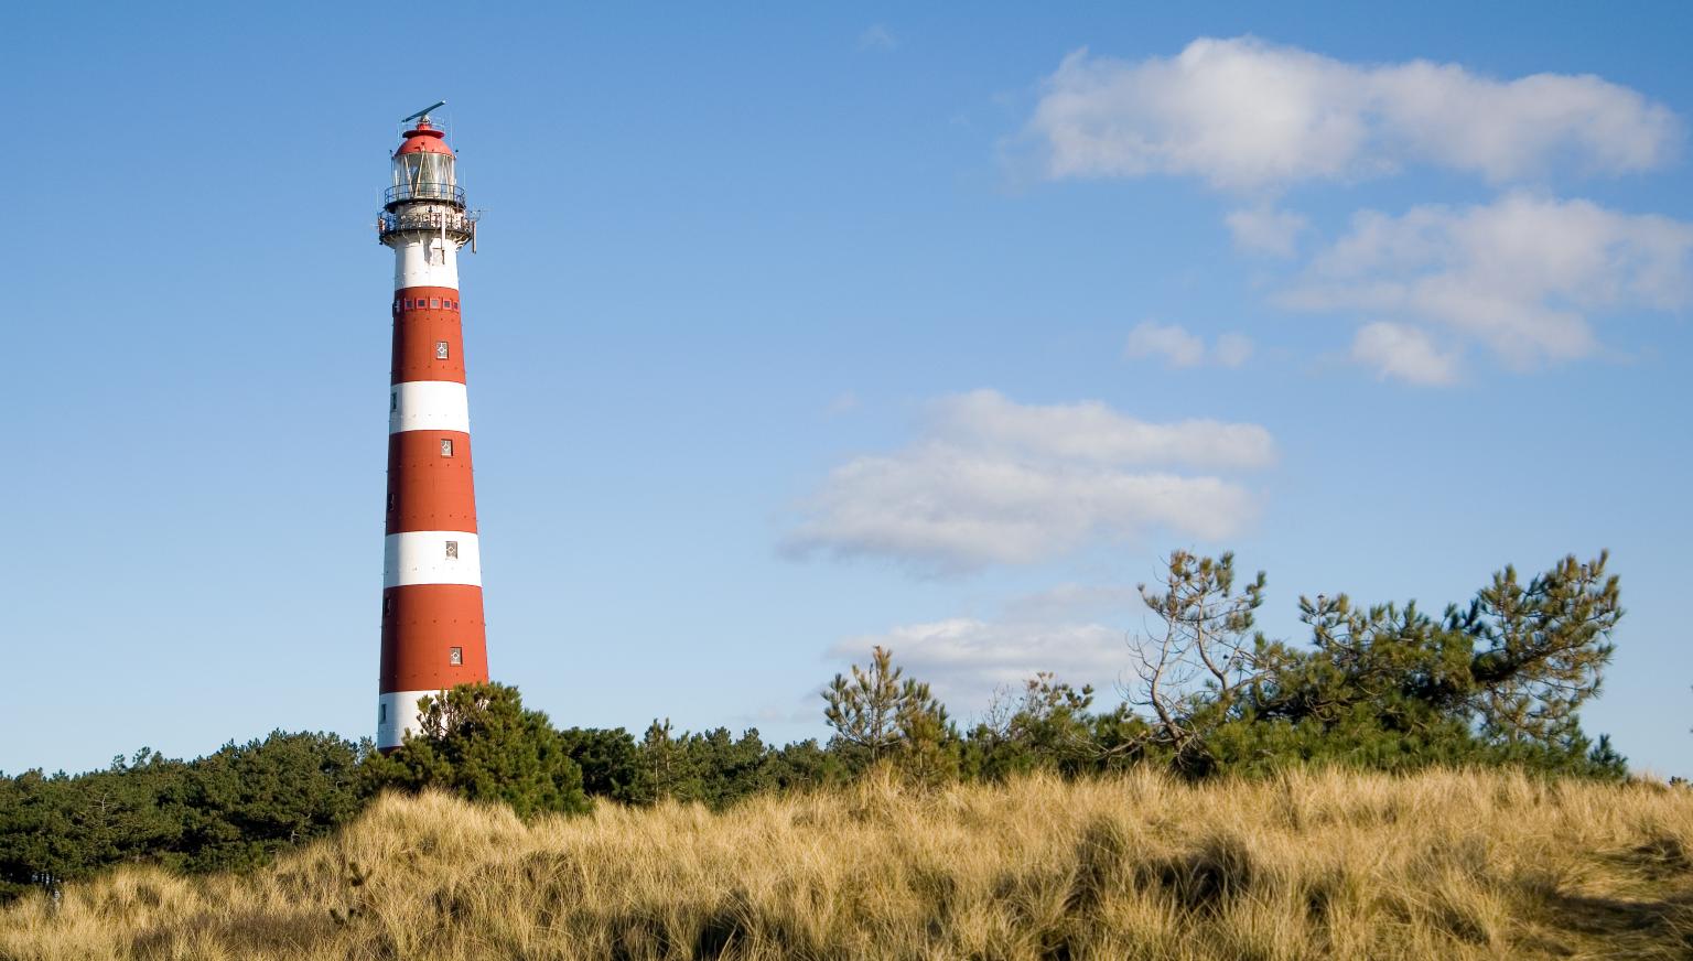
<svg viewBox="0 0 1693 961"><path fill-rule="evenodd" d="M1258 425L1151 425L1097 401L1036 406L973 391L936 401L924 435L904 450L831 470L782 548L950 574L1155 528L1221 540L1251 519L1253 494L1173 467L1246 469L1273 457Z"/></svg>

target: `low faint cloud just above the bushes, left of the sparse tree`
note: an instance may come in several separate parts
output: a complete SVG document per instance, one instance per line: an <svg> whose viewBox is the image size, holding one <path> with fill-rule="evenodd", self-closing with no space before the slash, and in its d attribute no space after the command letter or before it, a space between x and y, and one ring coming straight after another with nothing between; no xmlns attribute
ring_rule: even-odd
<svg viewBox="0 0 1693 961"><path fill-rule="evenodd" d="M892 650L906 677L928 682L955 712L980 711L995 690L1016 692L1043 670L1075 687L1092 684L1109 695L1129 660L1121 628L975 618L902 624L882 634L848 638L830 655L863 665L875 645Z"/></svg>

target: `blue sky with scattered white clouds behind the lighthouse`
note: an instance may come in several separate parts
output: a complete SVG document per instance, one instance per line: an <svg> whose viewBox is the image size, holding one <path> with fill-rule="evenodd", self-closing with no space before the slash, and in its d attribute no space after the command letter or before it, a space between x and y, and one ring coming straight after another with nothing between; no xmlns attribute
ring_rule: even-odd
<svg viewBox="0 0 1693 961"><path fill-rule="evenodd" d="M0 770L374 726L396 120L442 117L498 680L824 734L1106 690L1175 546L1463 601L1612 550L1693 773L1679 3L34 7Z"/></svg>

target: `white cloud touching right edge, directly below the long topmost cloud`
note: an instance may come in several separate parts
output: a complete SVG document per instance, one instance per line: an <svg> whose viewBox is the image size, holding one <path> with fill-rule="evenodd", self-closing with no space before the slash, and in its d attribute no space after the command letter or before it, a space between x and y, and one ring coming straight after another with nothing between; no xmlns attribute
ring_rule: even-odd
<svg viewBox="0 0 1693 961"><path fill-rule="evenodd" d="M1532 367L1593 354L1596 313L1693 303L1690 261L1690 223L1512 193L1483 206L1358 213L1278 301L1441 325ZM1383 343L1376 332L1354 354Z"/></svg>

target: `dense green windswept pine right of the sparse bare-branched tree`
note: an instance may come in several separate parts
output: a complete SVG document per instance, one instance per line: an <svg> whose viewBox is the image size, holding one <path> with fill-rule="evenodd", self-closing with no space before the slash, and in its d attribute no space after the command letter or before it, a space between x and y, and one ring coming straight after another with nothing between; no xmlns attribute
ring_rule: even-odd
<svg viewBox="0 0 1693 961"><path fill-rule="evenodd" d="M1607 555L1573 555L1522 585L1493 575L1441 619L1415 602L1358 607L1300 597L1312 645L1265 643L1243 717L1266 758L1324 756L1365 766L1515 761L1613 777L1625 763L1591 744L1576 712L1598 692L1622 618ZM1297 744L1297 746L1295 746Z"/></svg>

